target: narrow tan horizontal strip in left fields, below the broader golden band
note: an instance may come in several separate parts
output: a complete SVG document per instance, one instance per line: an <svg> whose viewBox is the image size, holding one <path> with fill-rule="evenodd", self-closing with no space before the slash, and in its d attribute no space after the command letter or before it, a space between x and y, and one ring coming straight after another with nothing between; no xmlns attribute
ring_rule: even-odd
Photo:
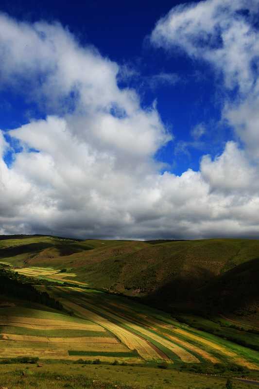
<svg viewBox="0 0 259 389"><path fill-rule="evenodd" d="M99 336L82 336L82 337L47 337L47 336L31 336L31 335L16 335L16 334L0 334L0 339L17 340L25 342L49 342L49 343L109 343L118 344L119 341L115 337L99 337Z"/></svg>

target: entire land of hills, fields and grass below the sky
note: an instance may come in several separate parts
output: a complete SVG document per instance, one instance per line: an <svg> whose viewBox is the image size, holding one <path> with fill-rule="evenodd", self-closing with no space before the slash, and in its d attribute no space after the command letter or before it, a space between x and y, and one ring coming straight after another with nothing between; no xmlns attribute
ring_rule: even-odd
<svg viewBox="0 0 259 389"><path fill-rule="evenodd" d="M257 258L257 240L0 238L0 387L259 377Z"/></svg>

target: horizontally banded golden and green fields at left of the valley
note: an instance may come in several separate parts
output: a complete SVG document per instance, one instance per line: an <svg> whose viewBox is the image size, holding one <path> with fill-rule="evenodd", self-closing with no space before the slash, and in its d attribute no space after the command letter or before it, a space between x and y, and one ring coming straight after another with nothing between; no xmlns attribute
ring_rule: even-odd
<svg viewBox="0 0 259 389"><path fill-rule="evenodd" d="M89 358L100 354L100 358L110 360L106 355L114 353L130 361L138 360L138 354L131 353L112 333L89 320L10 307L4 308L0 316L0 329L2 358L31 355L74 360L78 359L76 355L87 353Z"/></svg>

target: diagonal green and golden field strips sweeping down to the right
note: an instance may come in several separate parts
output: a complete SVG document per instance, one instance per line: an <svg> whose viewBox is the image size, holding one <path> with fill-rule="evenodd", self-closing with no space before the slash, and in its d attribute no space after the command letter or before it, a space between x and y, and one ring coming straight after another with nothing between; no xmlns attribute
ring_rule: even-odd
<svg viewBox="0 0 259 389"><path fill-rule="evenodd" d="M259 368L257 352L190 328L161 311L106 293L58 286L51 289L52 295L79 317L92 319L119 338L118 329L126 330L127 339L134 339L136 336L144 339L153 345L160 358L169 358L171 363L229 361L250 369ZM147 350L143 353L139 346L136 349L143 359L150 360Z"/></svg>

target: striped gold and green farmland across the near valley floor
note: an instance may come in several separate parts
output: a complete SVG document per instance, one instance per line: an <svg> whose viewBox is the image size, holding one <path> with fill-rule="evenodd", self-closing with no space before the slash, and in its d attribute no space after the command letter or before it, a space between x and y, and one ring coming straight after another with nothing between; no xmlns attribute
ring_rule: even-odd
<svg viewBox="0 0 259 389"><path fill-rule="evenodd" d="M24 272L30 273L29 269ZM32 270L34 272L34 270ZM37 286L72 317L29 308L0 309L0 357L79 358L169 364L234 362L259 369L253 350L224 341L133 301L80 287Z"/></svg>

